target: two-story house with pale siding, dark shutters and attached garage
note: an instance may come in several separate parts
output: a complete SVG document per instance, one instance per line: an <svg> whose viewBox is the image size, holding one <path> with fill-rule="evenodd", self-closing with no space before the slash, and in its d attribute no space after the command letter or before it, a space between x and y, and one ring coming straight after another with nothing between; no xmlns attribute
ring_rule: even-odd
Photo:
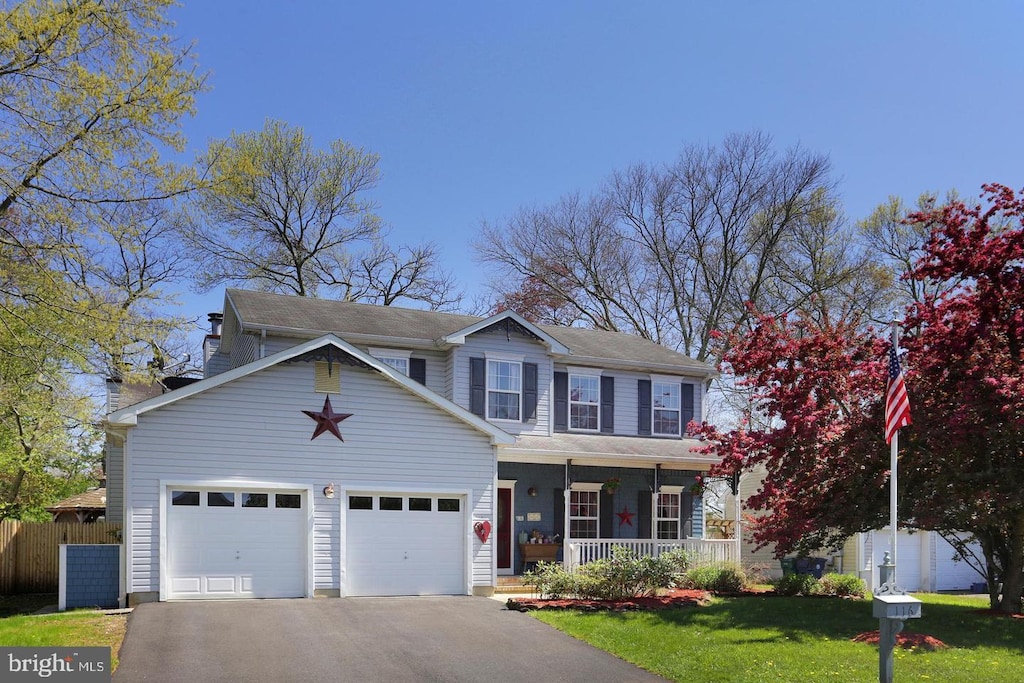
<svg viewBox="0 0 1024 683"><path fill-rule="evenodd" d="M108 416L133 602L489 594L701 543L703 364L511 311L229 289L211 319L203 380Z"/></svg>

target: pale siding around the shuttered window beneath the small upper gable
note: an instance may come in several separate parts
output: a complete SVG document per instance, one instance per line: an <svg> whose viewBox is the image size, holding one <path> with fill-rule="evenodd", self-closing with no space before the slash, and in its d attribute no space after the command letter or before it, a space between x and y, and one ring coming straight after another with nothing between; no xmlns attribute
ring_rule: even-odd
<svg viewBox="0 0 1024 683"><path fill-rule="evenodd" d="M510 434L549 435L551 403L551 359L547 348L532 338L523 337L517 333L511 334L511 339L504 332L478 332L466 339L464 346L456 347L452 353L453 396L456 403L469 410L469 358L483 356L487 352L498 355L522 356L523 362L537 364L537 420L529 422L499 422L502 429ZM494 356L493 356L494 357Z"/></svg>

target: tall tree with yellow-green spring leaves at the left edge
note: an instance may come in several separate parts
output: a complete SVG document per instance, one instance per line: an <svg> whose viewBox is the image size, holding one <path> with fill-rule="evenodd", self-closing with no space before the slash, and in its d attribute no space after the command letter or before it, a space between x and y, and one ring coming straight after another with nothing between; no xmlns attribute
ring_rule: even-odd
<svg viewBox="0 0 1024 683"><path fill-rule="evenodd" d="M129 374L174 322L161 159L203 87L171 0L0 5L0 506L38 514L94 464L84 373ZM76 483L78 482L78 483Z"/></svg>

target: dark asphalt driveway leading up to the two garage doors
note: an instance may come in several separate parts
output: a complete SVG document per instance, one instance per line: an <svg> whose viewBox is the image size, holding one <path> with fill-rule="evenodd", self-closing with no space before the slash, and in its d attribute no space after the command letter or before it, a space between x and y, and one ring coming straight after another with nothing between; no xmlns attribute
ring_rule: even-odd
<svg viewBox="0 0 1024 683"><path fill-rule="evenodd" d="M231 600L140 605L116 683L660 681L496 600Z"/></svg>

